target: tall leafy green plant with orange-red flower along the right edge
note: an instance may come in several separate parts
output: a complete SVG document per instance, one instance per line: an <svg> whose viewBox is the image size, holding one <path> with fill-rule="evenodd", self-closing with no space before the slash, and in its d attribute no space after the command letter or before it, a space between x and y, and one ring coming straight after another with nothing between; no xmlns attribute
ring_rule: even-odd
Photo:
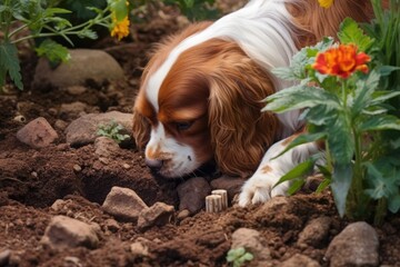
<svg viewBox="0 0 400 267"><path fill-rule="evenodd" d="M400 65L392 58L400 55L400 1L391 0L387 12L380 1L372 2L378 19L366 26L368 36L357 22L346 19L338 33L340 44L326 38L302 49L289 68L276 69L277 76L298 85L268 97L264 110L303 110L308 134L294 139L288 149L310 141L324 142L326 147L324 155L300 164L280 182L294 180L294 191L324 157L326 165L317 165L326 178L319 190L331 187L340 216L373 216L380 224L388 209L400 209L400 119L399 106L394 106L400 96ZM397 39L387 36L387 24ZM379 38L382 34L387 38ZM382 48L391 56L382 55Z"/></svg>

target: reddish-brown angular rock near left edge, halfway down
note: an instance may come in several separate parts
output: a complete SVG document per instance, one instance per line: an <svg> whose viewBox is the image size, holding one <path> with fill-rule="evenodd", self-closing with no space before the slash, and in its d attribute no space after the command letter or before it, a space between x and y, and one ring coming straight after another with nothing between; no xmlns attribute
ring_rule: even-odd
<svg viewBox="0 0 400 267"><path fill-rule="evenodd" d="M32 148L44 148L53 142L58 135L43 117L39 117L22 127L17 132L17 138Z"/></svg>

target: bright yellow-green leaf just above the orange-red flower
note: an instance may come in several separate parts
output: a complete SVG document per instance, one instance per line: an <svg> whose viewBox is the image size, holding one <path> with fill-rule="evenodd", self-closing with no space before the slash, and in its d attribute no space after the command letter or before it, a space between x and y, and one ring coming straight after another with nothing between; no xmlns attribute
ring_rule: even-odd
<svg viewBox="0 0 400 267"><path fill-rule="evenodd" d="M340 24L338 37L341 43L354 43L359 51L366 51L374 42L351 18L346 18Z"/></svg>

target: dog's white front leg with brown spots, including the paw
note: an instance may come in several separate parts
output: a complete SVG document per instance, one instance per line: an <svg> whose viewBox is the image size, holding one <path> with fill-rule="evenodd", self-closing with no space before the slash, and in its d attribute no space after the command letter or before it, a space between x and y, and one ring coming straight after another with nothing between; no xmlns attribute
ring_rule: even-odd
<svg viewBox="0 0 400 267"><path fill-rule="evenodd" d="M254 175L244 182L239 195L239 206L264 202L272 197L287 195L290 186L288 181L274 188L273 186L289 170L319 151L317 144L309 142L294 147L274 158L284 150L292 139L293 137L283 139L268 149Z"/></svg>

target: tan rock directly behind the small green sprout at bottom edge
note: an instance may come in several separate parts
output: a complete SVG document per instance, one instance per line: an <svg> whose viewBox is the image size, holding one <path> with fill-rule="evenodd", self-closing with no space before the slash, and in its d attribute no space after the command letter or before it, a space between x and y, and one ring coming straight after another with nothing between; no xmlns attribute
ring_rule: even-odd
<svg viewBox="0 0 400 267"><path fill-rule="evenodd" d="M246 251L254 256L254 260L270 260L270 249L267 240L259 231L249 228L239 228L232 234L231 248L244 247Z"/></svg>

